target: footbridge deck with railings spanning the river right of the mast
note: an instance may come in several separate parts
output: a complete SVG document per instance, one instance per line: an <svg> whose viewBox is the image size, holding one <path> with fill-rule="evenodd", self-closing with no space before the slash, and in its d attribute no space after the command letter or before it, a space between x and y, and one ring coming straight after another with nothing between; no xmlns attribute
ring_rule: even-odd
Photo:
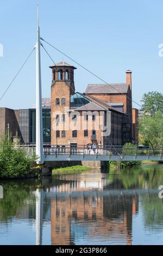
<svg viewBox="0 0 163 256"><path fill-rule="evenodd" d="M33 146L24 146L26 151L35 151ZM43 148L44 161L163 161L163 149L123 149L118 147L101 147L93 151L80 146L71 148L61 145Z"/></svg>

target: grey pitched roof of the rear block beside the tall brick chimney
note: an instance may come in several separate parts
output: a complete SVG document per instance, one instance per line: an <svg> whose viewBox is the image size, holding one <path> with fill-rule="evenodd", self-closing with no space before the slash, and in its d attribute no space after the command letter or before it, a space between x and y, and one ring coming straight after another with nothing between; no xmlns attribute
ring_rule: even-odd
<svg viewBox="0 0 163 256"><path fill-rule="evenodd" d="M109 84L88 84L85 93L86 94L127 93L128 88L129 88L128 83L110 83L110 86Z"/></svg>

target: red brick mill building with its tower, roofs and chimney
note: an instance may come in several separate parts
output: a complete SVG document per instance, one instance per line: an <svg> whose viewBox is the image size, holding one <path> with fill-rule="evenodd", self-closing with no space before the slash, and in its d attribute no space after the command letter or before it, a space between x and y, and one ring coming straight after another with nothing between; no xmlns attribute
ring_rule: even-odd
<svg viewBox="0 0 163 256"><path fill-rule="evenodd" d="M52 145L64 148L137 142L132 124L130 70L126 71L126 83L88 84L81 94L75 92L74 66L60 62L50 68Z"/></svg>

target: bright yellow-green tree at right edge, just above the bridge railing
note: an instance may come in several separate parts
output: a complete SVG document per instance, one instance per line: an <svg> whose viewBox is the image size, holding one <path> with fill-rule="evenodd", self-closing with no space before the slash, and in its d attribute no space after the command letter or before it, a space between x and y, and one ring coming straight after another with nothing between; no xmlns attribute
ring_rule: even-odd
<svg viewBox="0 0 163 256"><path fill-rule="evenodd" d="M161 148L163 145L163 114L157 111L155 115L143 114L139 119L139 133L151 147Z"/></svg>

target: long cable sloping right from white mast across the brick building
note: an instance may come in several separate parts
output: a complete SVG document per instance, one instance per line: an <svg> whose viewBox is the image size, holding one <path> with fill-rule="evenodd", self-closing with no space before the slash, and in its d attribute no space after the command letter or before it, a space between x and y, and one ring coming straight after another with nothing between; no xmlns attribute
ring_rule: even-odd
<svg viewBox="0 0 163 256"><path fill-rule="evenodd" d="M57 50L58 52L60 52L61 54L63 54L65 57L67 57L68 59L71 59L74 63L76 63L77 65L79 65L81 68L85 69L87 72L89 72L91 75L95 76L96 78L98 78L99 80L101 80L102 82L104 82L105 84L108 84L108 86L110 86L112 89L116 90L118 93L121 93L122 95L125 95L127 97L127 99L131 100L132 102L134 102L136 105L138 105L139 107L142 108L142 106L137 103L136 101L134 101L133 99L131 99L129 96L127 96L126 94L120 92L120 90L118 90L117 88L115 88L114 86L112 86L112 84L107 83L105 80L103 80L101 77L97 76L95 73L93 73L92 71L90 71L89 69L85 68L85 66L83 66L82 64L78 63L76 60L72 59L70 56L68 56L66 53L60 51L57 47L51 45L49 42L47 42L46 40L44 40L43 38L40 38L42 41L45 41L48 45L50 45L51 47L53 47L55 50Z"/></svg>

